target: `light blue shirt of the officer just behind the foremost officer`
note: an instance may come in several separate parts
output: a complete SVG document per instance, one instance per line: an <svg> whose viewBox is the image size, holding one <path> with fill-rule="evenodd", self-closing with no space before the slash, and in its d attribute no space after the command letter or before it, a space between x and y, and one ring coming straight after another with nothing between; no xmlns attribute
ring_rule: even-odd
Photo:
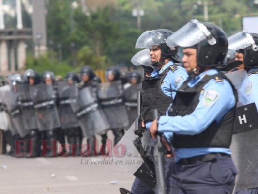
<svg viewBox="0 0 258 194"><path fill-rule="evenodd" d="M174 63L172 61L169 61L166 65L164 65L160 70L155 69L151 73L152 78L157 78L160 74L162 74L163 71L165 71L170 65L173 65ZM167 72L167 75L162 81L161 85L161 91L166 94L168 97L171 97L174 99L176 93L171 92L172 90L176 90L178 87L182 85L182 83L188 78L188 74L185 68L178 66L178 69L174 72L172 70L169 70ZM147 122L145 124L146 128L149 130L151 126L151 121Z"/></svg>

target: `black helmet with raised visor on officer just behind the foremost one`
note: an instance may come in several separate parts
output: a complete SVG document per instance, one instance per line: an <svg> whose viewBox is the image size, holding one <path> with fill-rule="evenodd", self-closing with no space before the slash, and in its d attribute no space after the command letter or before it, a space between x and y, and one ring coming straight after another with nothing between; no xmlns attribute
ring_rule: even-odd
<svg viewBox="0 0 258 194"><path fill-rule="evenodd" d="M173 34L173 32L167 29L145 31L137 39L135 48L155 49L159 47L162 54L158 62L152 63L153 66L164 63L165 59L167 58L172 58L174 62L181 62L181 58L177 54L178 47L168 47L166 44L166 40L171 34Z"/></svg>

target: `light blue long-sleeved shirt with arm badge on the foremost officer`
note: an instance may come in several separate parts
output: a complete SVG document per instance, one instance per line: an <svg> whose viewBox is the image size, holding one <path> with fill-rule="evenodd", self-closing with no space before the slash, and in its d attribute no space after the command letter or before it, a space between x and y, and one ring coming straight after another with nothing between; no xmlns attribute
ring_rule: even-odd
<svg viewBox="0 0 258 194"><path fill-rule="evenodd" d="M214 75L218 71L210 69L193 78L188 85L193 87L205 74ZM204 91L199 96L199 103L193 113L185 116L161 116L159 119L159 132L175 132L181 135L195 135L201 133L216 120L220 122L236 104L233 89L226 80L223 82L212 79L204 85ZM229 148L178 148L175 149L176 161L181 158L208 154L212 152L231 154Z"/></svg>

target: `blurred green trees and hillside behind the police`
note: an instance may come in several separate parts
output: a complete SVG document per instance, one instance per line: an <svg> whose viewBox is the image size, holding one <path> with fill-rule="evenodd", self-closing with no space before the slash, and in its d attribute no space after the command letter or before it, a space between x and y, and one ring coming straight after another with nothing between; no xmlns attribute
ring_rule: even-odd
<svg viewBox="0 0 258 194"><path fill-rule="evenodd" d="M47 67L61 72L79 69L83 65L90 65L94 70L111 65L130 67L133 66L130 60L138 51L134 48L135 42L142 32L160 28L176 31L192 18L204 21L204 0L117 0L109 4L105 0L97 1L99 4L105 2L105 6L91 9L86 15L80 0L77 1L79 7L75 9L70 7L72 0L46 0L48 47L53 52L52 57L50 60L49 53L39 59L29 57L27 67L39 70ZM219 25L228 36L242 30L242 16L258 15L258 5L253 3L254 0L207 1L209 22ZM145 11L141 28L137 27L137 18L132 16L137 3ZM28 15L24 16L28 20ZM27 21L26 25L30 22ZM74 56L71 43L75 45ZM62 62L58 60L60 51ZM76 66L72 68L73 57Z"/></svg>

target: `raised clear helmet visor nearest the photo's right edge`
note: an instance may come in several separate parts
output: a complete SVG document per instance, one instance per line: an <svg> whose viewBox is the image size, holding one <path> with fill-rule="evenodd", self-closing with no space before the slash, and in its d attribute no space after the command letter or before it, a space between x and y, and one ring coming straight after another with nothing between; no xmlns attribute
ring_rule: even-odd
<svg viewBox="0 0 258 194"><path fill-rule="evenodd" d="M258 49L252 36L247 32L247 30L240 31L230 37L228 37L228 48L239 50L244 49L252 45L254 51Z"/></svg>

